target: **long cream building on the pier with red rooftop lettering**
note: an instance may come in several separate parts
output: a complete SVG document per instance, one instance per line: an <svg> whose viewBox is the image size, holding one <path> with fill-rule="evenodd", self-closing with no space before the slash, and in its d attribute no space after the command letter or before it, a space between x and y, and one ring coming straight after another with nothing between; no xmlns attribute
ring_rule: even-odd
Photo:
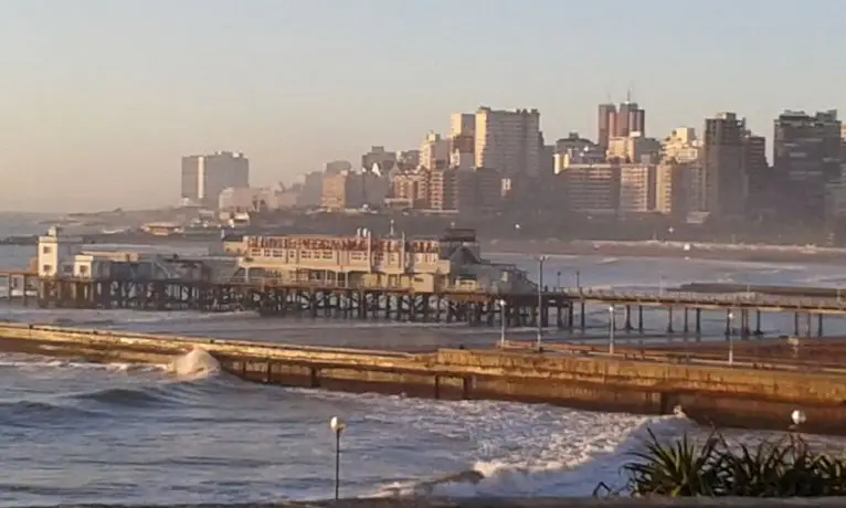
<svg viewBox="0 0 846 508"><path fill-rule="evenodd" d="M437 239L355 236L245 236L225 250L240 254L240 276L339 287L520 293L533 290L526 273L482 257L472 230Z"/></svg>

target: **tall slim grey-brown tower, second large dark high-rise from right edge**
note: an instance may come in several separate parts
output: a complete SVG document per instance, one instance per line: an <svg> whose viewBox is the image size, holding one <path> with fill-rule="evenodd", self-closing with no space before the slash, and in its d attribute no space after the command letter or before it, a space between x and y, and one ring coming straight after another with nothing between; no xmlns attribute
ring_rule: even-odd
<svg viewBox="0 0 846 508"><path fill-rule="evenodd" d="M720 113L705 120L701 154L706 210L713 216L738 218L745 212L745 119L734 113Z"/></svg>

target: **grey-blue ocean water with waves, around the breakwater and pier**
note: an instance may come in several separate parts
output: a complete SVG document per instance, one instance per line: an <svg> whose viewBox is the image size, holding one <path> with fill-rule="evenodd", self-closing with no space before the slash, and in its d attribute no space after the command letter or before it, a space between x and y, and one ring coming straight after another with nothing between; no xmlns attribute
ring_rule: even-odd
<svg viewBox="0 0 846 508"><path fill-rule="evenodd" d="M0 233L2 231L0 230ZM2 234L0 234L2 235ZM0 268L24 267L32 247L0 247ZM491 256L493 257L493 256ZM496 256L530 273L521 256ZM838 266L696 260L553 256L544 281L656 289L686 282L837 287ZM535 276L535 274L532 275ZM544 340L606 340L606 309L589 316L586 337L547 330ZM242 338L326 346L431 349L486 347L498 330L466 325L260 318L252 314L57 311L0 307L0 319L86 328ZM677 318L678 319L678 318ZM707 316L720 340L723 315ZM792 332L790 316L765 316L768 335ZM666 315L647 313L659 331ZM846 335L846 320L826 320ZM530 338L532 330L510 330ZM639 340L638 338L618 341ZM684 340L684 339L677 339ZM190 363L190 364L187 364ZM662 436L707 430L678 417L584 412L489 401L431 401L330 393L246 383L213 362L130 367L0 356L0 506L81 502L194 504L319 499L334 495L329 420L341 440L341 496L410 494L444 475L477 470L478 484L437 484L453 496L588 496L622 486L620 466L653 428ZM785 428L789 415L785 414ZM765 434L731 431L730 437ZM814 443L843 448L835 438Z"/></svg>

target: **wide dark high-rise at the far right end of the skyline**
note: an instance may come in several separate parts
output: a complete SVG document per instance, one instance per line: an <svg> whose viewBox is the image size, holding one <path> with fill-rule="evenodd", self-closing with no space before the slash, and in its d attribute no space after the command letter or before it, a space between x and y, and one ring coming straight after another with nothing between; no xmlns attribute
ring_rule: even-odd
<svg viewBox="0 0 846 508"><path fill-rule="evenodd" d="M842 128L836 110L784 112L775 119L773 169L785 219L825 218L827 186L840 176Z"/></svg>

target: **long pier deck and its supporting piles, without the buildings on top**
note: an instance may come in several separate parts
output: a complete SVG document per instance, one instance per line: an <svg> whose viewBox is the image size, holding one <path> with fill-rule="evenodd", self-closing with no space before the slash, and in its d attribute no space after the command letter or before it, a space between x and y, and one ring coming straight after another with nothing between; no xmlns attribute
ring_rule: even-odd
<svg viewBox="0 0 846 508"><path fill-rule="evenodd" d="M408 288L346 287L279 281L140 281L46 278L29 272L0 272L9 301L42 308L136 310L254 310L268 316L467 322L472 326L556 327L584 332L596 307L609 309L607 326L645 332L644 309L667 313L668 335L701 335L702 313L722 313L726 336L763 334L764 313L794 316L794 335L823 336L825 316L846 316L846 300L819 288L792 295L761 293L625 293L562 288L499 294L444 288L422 293ZM14 289L13 289L14 288ZM804 289L804 292L803 292ZM826 295L826 296L819 296ZM680 322L679 322L680 321Z"/></svg>

